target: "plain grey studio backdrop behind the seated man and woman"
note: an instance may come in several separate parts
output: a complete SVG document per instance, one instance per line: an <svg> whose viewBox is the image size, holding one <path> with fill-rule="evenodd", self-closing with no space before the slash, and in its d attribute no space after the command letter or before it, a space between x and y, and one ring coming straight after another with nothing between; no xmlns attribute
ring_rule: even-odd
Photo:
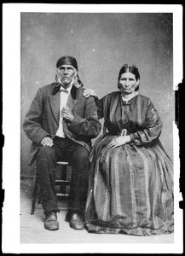
<svg viewBox="0 0 185 256"><path fill-rule="evenodd" d="M118 90L124 63L135 64L141 75L139 93L158 110L164 125L160 140L173 158L172 19L170 13L20 14L21 176L34 174L27 167L31 141L23 119L38 88L55 81L55 63L62 55L77 59L84 88L94 89L100 98Z"/></svg>

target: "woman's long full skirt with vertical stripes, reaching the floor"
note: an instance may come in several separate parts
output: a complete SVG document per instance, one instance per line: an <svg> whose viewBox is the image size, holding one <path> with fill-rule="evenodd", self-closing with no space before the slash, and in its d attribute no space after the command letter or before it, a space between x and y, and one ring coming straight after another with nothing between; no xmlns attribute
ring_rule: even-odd
<svg viewBox="0 0 185 256"><path fill-rule="evenodd" d="M100 137L91 153L86 229L135 236L173 232L173 169L161 143L107 148L113 138Z"/></svg>

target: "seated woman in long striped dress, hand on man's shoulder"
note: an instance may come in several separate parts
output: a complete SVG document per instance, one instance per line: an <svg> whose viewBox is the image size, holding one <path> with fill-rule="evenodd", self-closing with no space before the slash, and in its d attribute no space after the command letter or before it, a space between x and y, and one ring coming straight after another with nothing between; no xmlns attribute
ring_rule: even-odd
<svg viewBox="0 0 185 256"><path fill-rule="evenodd" d="M86 229L151 236L173 232L172 163L159 141L162 122L153 102L138 94L136 66L119 71L119 91L98 103L106 132L92 149ZM95 96L87 89L84 96ZM124 134L123 131L124 130Z"/></svg>

